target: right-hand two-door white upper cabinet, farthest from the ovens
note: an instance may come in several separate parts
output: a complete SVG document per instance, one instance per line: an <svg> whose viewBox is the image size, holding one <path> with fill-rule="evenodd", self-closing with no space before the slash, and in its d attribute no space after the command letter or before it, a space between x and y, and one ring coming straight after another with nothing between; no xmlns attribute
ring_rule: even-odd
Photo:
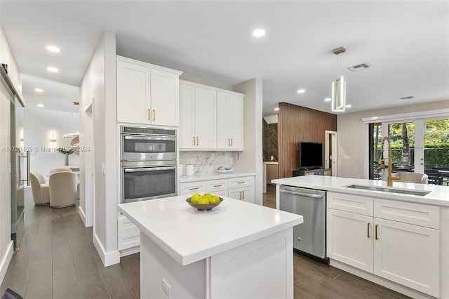
<svg viewBox="0 0 449 299"><path fill-rule="evenodd" d="M243 95L217 92L217 149L243 150Z"/></svg>

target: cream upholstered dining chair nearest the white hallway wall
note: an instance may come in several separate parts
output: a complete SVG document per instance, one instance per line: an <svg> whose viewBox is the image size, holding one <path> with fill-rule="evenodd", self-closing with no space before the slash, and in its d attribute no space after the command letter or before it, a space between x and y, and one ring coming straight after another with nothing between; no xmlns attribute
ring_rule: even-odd
<svg viewBox="0 0 449 299"><path fill-rule="evenodd" d="M50 206L63 208L73 206L76 201L77 175L73 172L60 172L50 175Z"/></svg>

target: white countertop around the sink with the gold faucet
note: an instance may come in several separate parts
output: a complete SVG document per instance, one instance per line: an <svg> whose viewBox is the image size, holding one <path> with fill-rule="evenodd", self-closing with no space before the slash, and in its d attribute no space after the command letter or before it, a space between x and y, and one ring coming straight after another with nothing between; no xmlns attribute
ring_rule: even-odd
<svg viewBox="0 0 449 299"><path fill-rule="evenodd" d="M304 187L311 189L327 190L333 192L344 192L347 194L360 194L364 196L397 199L401 201L410 201L420 204L433 204L436 206L449 206L449 187L439 185L414 184L411 182L393 182L394 189L403 190L425 190L430 191L424 196L400 194L393 192L381 192L373 190L361 190L347 188L349 185L366 185L387 187L387 182L383 180L364 180L358 178L340 178L326 175L303 175L293 178L281 178L272 180L279 185L288 185L294 187Z"/></svg>

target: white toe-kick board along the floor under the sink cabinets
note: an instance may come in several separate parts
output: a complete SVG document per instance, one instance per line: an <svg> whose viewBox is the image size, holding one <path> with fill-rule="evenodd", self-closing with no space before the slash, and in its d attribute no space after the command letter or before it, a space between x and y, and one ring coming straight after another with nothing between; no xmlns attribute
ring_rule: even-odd
<svg viewBox="0 0 449 299"><path fill-rule="evenodd" d="M388 279L384 279L382 277L378 277L375 274L371 274L368 272L365 272L363 270L357 269L355 267L352 267L350 265L344 264L339 262L338 260L330 259L330 265L333 267L336 267L340 270L349 272L351 274L354 274L358 277L361 277L363 279L369 280L374 282L375 284L380 284L381 286L384 286L386 288L389 288L393 291L396 291L398 293L402 293L404 295L408 295L411 298L415 299L429 299L429 298L435 298L431 295L424 294L420 291L413 290L413 288L408 288L407 286L402 286L401 284L396 284L394 281L389 281Z"/></svg>

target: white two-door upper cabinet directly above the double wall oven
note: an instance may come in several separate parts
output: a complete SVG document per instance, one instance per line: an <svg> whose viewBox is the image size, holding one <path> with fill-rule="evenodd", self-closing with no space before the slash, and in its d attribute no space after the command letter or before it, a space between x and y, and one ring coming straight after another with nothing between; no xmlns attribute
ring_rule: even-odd
<svg viewBox="0 0 449 299"><path fill-rule="evenodd" d="M117 56L117 121L178 126L180 74Z"/></svg>

